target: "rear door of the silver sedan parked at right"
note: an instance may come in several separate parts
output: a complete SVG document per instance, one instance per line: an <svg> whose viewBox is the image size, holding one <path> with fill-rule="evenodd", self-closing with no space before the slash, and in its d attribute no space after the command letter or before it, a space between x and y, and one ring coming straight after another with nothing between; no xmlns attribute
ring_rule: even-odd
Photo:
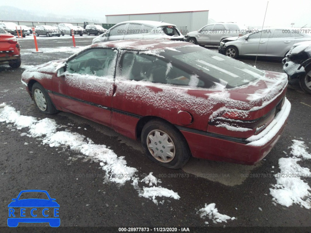
<svg viewBox="0 0 311 233"><path fill-rule="evenodd" d="M294 42L295 38L291 36L291 30L276 29L268 40L266 56L284 57Z"/></svg>

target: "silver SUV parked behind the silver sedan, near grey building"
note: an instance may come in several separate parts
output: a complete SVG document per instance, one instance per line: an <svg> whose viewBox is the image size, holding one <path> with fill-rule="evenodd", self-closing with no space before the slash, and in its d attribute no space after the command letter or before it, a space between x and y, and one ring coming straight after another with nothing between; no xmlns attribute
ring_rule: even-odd
<svg viewBox="0 0 311 233"><path fill-rule="evenodd" d="M244 25L237 23L211 23L198 31L187 33L185 39L198 45L219 45L225 38L243 36L249 31Z"/></svg>

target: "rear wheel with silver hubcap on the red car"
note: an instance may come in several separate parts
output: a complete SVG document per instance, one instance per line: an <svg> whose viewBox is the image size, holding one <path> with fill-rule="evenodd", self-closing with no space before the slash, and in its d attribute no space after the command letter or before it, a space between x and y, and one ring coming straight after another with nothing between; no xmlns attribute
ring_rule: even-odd
<svg viewBox="0 0 311 233"><path fill-rule="evenodd" d="M158 133L160 140L159 142L152 143L149 136L156 137L155 132ZM161 142L161 137L166 134L167 140ZM165 136L165 135L164 135ZM155 163L172 169L181 168L183 165L187 163L187 161L191 157L191 152L188 146L188 143L181 132L175 128L173 125L162 121L162 120L152 120L149 121L146 125L144 125L141 132L141 144L144 148L144 151L147 157L154 161ZM155 149L149 149L148 144L150 146L155 146ZM162 144L162 146L161 146ZM169 149L169 146L165 147L164 145L170 144L173 148ZM158 147L157 147L158 146ZM162 150L164 149L164 150ZM155 151L157 150L157 151ZM165 157L167 161L165 162L160 156L153 156L153 154L158 153L163 154L166 152L173 153L171 158Z"/></svg>

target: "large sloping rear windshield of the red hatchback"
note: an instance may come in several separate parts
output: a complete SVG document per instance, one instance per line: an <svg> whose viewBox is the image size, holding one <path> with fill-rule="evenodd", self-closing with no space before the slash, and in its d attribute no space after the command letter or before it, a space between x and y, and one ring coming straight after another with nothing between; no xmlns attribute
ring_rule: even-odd
<svg viewBox="0 0 311 233"><path fill-rule="evenodd" d="M220 83L230 89L247 85L265 74L243 62L205 48L183 47L176 50L166 50L161 55L197 73L205 83Z"/></svg>

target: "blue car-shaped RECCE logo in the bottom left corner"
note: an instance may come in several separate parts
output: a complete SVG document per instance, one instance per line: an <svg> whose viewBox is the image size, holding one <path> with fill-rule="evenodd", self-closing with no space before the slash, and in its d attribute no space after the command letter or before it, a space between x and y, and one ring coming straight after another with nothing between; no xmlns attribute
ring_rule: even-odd
<svg viewBox="0 0 311 233"><path fill-rule="evenodd" d="M19 199L24 193L44 193L48 199L42 198L26 198ZM44 195L43 194L43 195ZM59 204L55 201L55 198L51 198L49 193L45 190L23 190L21 191L17 198L13 198L13 201L8 205L9 207L9 217L8 226L17 227L18 223L42 223L48 222L51 227L60 226L60 218L58 216ZM42 211L38 211L37 208L44 208ZM20 208L20 213L16 213L14 208ZM31 209L30 214L32 217L26 217L26 208ZM52 210L52 217L49 216L50 210ZM42 214L42 217L40 216ZM19 217L19 216L20 217ZM38 216L38 217L37 217Z"/></svg>

